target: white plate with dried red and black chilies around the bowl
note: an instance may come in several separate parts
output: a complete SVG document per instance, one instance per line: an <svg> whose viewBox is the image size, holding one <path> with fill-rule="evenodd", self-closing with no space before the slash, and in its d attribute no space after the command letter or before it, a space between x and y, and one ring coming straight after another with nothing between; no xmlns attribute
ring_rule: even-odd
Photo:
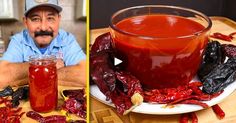
<svg viewBox="0 0 236 123"><path fill-rule="evenodd" d="M197 78L177 88L143 90L139 80L113 66L111 36L100 35L90 50L90 93L120 114L181 114L213 106L236 89L236 46L209 41ZM144 100L144 102L143 102Z"/></svg>

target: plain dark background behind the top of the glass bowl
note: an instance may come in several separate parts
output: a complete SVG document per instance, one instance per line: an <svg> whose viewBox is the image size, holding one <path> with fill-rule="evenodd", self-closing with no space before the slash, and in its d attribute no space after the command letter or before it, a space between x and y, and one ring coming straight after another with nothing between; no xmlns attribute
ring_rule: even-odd
<svg viewBox="0 0 236 123"><path fill-rule="evenodd" d="M90 28L108 27L110 17L120 9L151 4L187 7L236 21L236 0L90 0Z"/></svg>

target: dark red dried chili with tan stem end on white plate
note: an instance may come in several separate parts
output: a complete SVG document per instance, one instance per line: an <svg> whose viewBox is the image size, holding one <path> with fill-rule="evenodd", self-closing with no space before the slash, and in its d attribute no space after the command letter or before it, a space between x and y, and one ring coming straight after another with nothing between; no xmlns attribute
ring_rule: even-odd
<svg viewBox="0 0 236 123"><path fill-rule="evenodd" d="M111 93L111 101L119 114L128 113L134 105L143 102L142 88L139 80L124 71L116 71L116 88Z"/></svg>

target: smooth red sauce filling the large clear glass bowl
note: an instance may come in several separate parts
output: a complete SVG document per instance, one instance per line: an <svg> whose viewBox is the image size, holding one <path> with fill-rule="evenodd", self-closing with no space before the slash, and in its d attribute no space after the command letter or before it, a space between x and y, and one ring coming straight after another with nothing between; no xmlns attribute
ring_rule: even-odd
<svg viewBox="0 0 236 123"><path fill-rule="evenodd" d="M124 19L116 26L125 32L156 37L145 39L113 30L114 46L124 62L123 67L145 88L177 87L195 76L207 34L176 37L203 30L199 23L179 16L144 15Z"/></svg>

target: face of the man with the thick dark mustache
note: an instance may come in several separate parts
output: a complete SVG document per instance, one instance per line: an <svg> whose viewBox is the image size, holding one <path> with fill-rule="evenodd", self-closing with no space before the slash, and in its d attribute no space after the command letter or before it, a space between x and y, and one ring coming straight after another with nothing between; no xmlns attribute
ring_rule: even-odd
<svg viewBox="0 0 236 123"><path fill-rule="evenodd" d="M48 46L57 36L61 16L51 7L37 7L24 17L24 24L38 47Z"/></svg>

